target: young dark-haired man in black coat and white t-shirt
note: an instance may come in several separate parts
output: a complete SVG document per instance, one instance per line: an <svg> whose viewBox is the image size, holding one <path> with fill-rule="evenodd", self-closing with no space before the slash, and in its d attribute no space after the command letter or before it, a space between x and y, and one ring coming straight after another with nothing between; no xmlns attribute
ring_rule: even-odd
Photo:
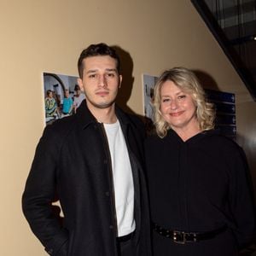
<svg viewBox="0 0 256 256"><path fill-rule="evenodd" d="M76 114L44 130L23 212L50 255L151 255L144 127L114 103L122 81L119 56L106 44L91 44L78 66L86 100Z"/></svg>

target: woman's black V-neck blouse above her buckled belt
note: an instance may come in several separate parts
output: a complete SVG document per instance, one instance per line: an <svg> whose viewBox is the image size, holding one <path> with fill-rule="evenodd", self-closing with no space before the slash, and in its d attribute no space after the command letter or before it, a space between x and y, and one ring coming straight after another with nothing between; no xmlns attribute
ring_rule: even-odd
<svg viewBox="0 0 256 256"><path fill-rule="evenodd" d="M247 160L241 147L216 131L188 141L168 131L145 143L151 217L166 229L233 230L239 246L251 240L255 219Z"/></svg>

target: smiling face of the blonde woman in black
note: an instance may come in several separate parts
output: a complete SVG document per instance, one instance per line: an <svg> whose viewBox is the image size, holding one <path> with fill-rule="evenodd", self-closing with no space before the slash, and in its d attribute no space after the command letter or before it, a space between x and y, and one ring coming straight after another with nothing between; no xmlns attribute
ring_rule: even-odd
<svg viewBox="0 0 256 256"><path fill-rule="evenodd" d="M174 131L198 127L192 96L170 80L163 83L160 89L160 112Z"/></svg>

